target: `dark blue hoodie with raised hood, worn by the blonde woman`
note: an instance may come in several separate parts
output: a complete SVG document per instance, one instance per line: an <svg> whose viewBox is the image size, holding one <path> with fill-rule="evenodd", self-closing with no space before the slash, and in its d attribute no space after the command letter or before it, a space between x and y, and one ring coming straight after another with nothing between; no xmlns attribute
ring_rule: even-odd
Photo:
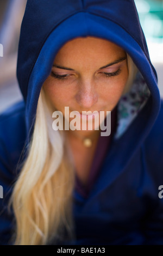
<svg viewBox="0 0 163 256"><path fill-rule="evenodd" d="M114 42L139 72L118 102L114 141L89 196L73 193L76 240L70 244L163 245L163 109L133 0L27 1L17 62L24 101L0 117L0 243L10 243L14 229L8 200L33 133L42 84L60 47L78 36Z"/></svg>

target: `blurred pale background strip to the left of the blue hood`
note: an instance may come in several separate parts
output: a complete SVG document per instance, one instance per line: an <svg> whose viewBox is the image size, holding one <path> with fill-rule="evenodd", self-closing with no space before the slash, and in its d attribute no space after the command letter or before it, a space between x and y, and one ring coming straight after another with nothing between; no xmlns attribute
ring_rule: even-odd
<svg viewBox="0 0 163 256"><path fill-rule="evenodd" d="M0 0L0 112L20 101L22 95L16 79L17 49L20 27L27 0Z"/></svg>

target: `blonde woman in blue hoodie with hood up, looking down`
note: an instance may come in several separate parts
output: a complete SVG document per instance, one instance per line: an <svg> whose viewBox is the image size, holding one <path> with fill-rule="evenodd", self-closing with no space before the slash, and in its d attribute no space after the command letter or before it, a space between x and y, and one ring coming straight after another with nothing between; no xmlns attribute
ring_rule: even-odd
<svg viewBox="0 0 163 256"><path fill-rule="evenodd" d="M162 244L162 111L134 1L29 0L17 77L24 102L0 126L1 243Z"/></svg>

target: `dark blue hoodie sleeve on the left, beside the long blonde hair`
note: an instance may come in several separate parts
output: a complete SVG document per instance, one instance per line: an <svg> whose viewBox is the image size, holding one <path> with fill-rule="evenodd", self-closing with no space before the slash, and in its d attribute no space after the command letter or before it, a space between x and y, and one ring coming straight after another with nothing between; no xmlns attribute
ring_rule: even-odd
<svg viewBox="0 0 163 256"><path fill-rule="evenodd" d="M14 215L9 208L12 188L16 180L23 149L24 114L22 103L18 103L0 116L0 245L11 244Z"/></svg>

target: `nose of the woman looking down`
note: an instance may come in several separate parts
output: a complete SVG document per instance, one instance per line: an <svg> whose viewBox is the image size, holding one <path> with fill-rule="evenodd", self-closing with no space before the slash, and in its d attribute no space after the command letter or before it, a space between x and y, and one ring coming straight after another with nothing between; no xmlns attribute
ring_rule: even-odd
<svg viewBox="0 0 163 256"><path fill-rule="evenodd" d="M93 81L85 80L80 82L76 94L76 101L85 110L97 103L98 94Z"/></svg>

